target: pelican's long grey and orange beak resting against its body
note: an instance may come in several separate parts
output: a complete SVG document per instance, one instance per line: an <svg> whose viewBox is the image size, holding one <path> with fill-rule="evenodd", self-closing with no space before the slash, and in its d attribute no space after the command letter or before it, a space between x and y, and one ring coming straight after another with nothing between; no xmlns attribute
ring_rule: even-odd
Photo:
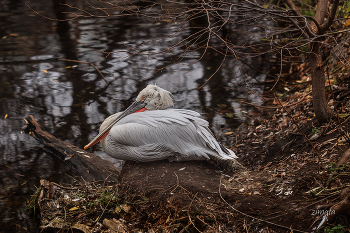
<svg viewBox="0 0 350 233"><path fill-rule="evenodd" d="M95 138L94 140L92 140L89 144L87 144L84 147L84 150L92 147L93 145L97 144L99 141L101 141L102 139L104 139L108 133L109 130L113 127L113 125L115 123L117 123L118 121L120 121L120 119L122 119L123 117L126 117L127 115L137 112L137 111L143 111L141 109L144 109L144 107L147 104L143 101L135 101L134 103L132 103L124 112L122 112L122 114L120 114L114 121L112 121L109 125L107 125L106 128L104 128ZM145 109L144 109L145 110Z"/></svg>

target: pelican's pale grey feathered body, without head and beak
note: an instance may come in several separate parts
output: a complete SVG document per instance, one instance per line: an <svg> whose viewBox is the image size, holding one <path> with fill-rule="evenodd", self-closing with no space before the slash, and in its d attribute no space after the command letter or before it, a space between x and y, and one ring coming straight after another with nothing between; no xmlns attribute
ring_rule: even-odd
<svg viewBox="0 0 350 233"><path fill-rule="evenodd" d="M120 113L107 118L101 129ZM211 134L199 113L184 109L153 110L130 114L118 121L105 139L104 150L122 160L204 160L210 156L234 159ZM222 149L224 148L224 150Z"/></svg>

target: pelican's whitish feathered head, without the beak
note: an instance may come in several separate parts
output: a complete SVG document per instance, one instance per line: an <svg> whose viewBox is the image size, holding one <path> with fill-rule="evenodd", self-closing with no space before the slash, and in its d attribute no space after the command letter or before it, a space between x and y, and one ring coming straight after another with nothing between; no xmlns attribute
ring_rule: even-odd
<svg viewBox="0 0 350 233"><path fill-rule="evenodd" d="M149 84L136 98L136 102L143 101L147 110L163 110L174 106L172 95L156 85Z"/></svg>

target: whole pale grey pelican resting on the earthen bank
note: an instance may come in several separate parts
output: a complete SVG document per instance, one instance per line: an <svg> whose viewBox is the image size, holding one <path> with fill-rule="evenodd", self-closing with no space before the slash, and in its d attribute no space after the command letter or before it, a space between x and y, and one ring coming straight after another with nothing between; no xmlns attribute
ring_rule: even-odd
<svg viewBox="0 0 350 233"><path fill-rule="evenodd" d="M215 139L209 123L199 113L173 106L169 91L150 84L124 112L109 116L84 150L101 141L109 156L121 160L237 158Z"/></svg>

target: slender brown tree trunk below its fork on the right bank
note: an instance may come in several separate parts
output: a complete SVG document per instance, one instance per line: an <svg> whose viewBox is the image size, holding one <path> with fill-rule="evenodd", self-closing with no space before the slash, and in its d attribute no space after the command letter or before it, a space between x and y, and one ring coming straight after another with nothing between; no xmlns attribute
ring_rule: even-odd
<svg viewBox="0 0 350 233"><path fill-rule="evenodd" d="M319 123L328 121L325 73L322 67L322 55L319 43L312 43L310 67L312 79L312 97L316 119Z"/></svg>

